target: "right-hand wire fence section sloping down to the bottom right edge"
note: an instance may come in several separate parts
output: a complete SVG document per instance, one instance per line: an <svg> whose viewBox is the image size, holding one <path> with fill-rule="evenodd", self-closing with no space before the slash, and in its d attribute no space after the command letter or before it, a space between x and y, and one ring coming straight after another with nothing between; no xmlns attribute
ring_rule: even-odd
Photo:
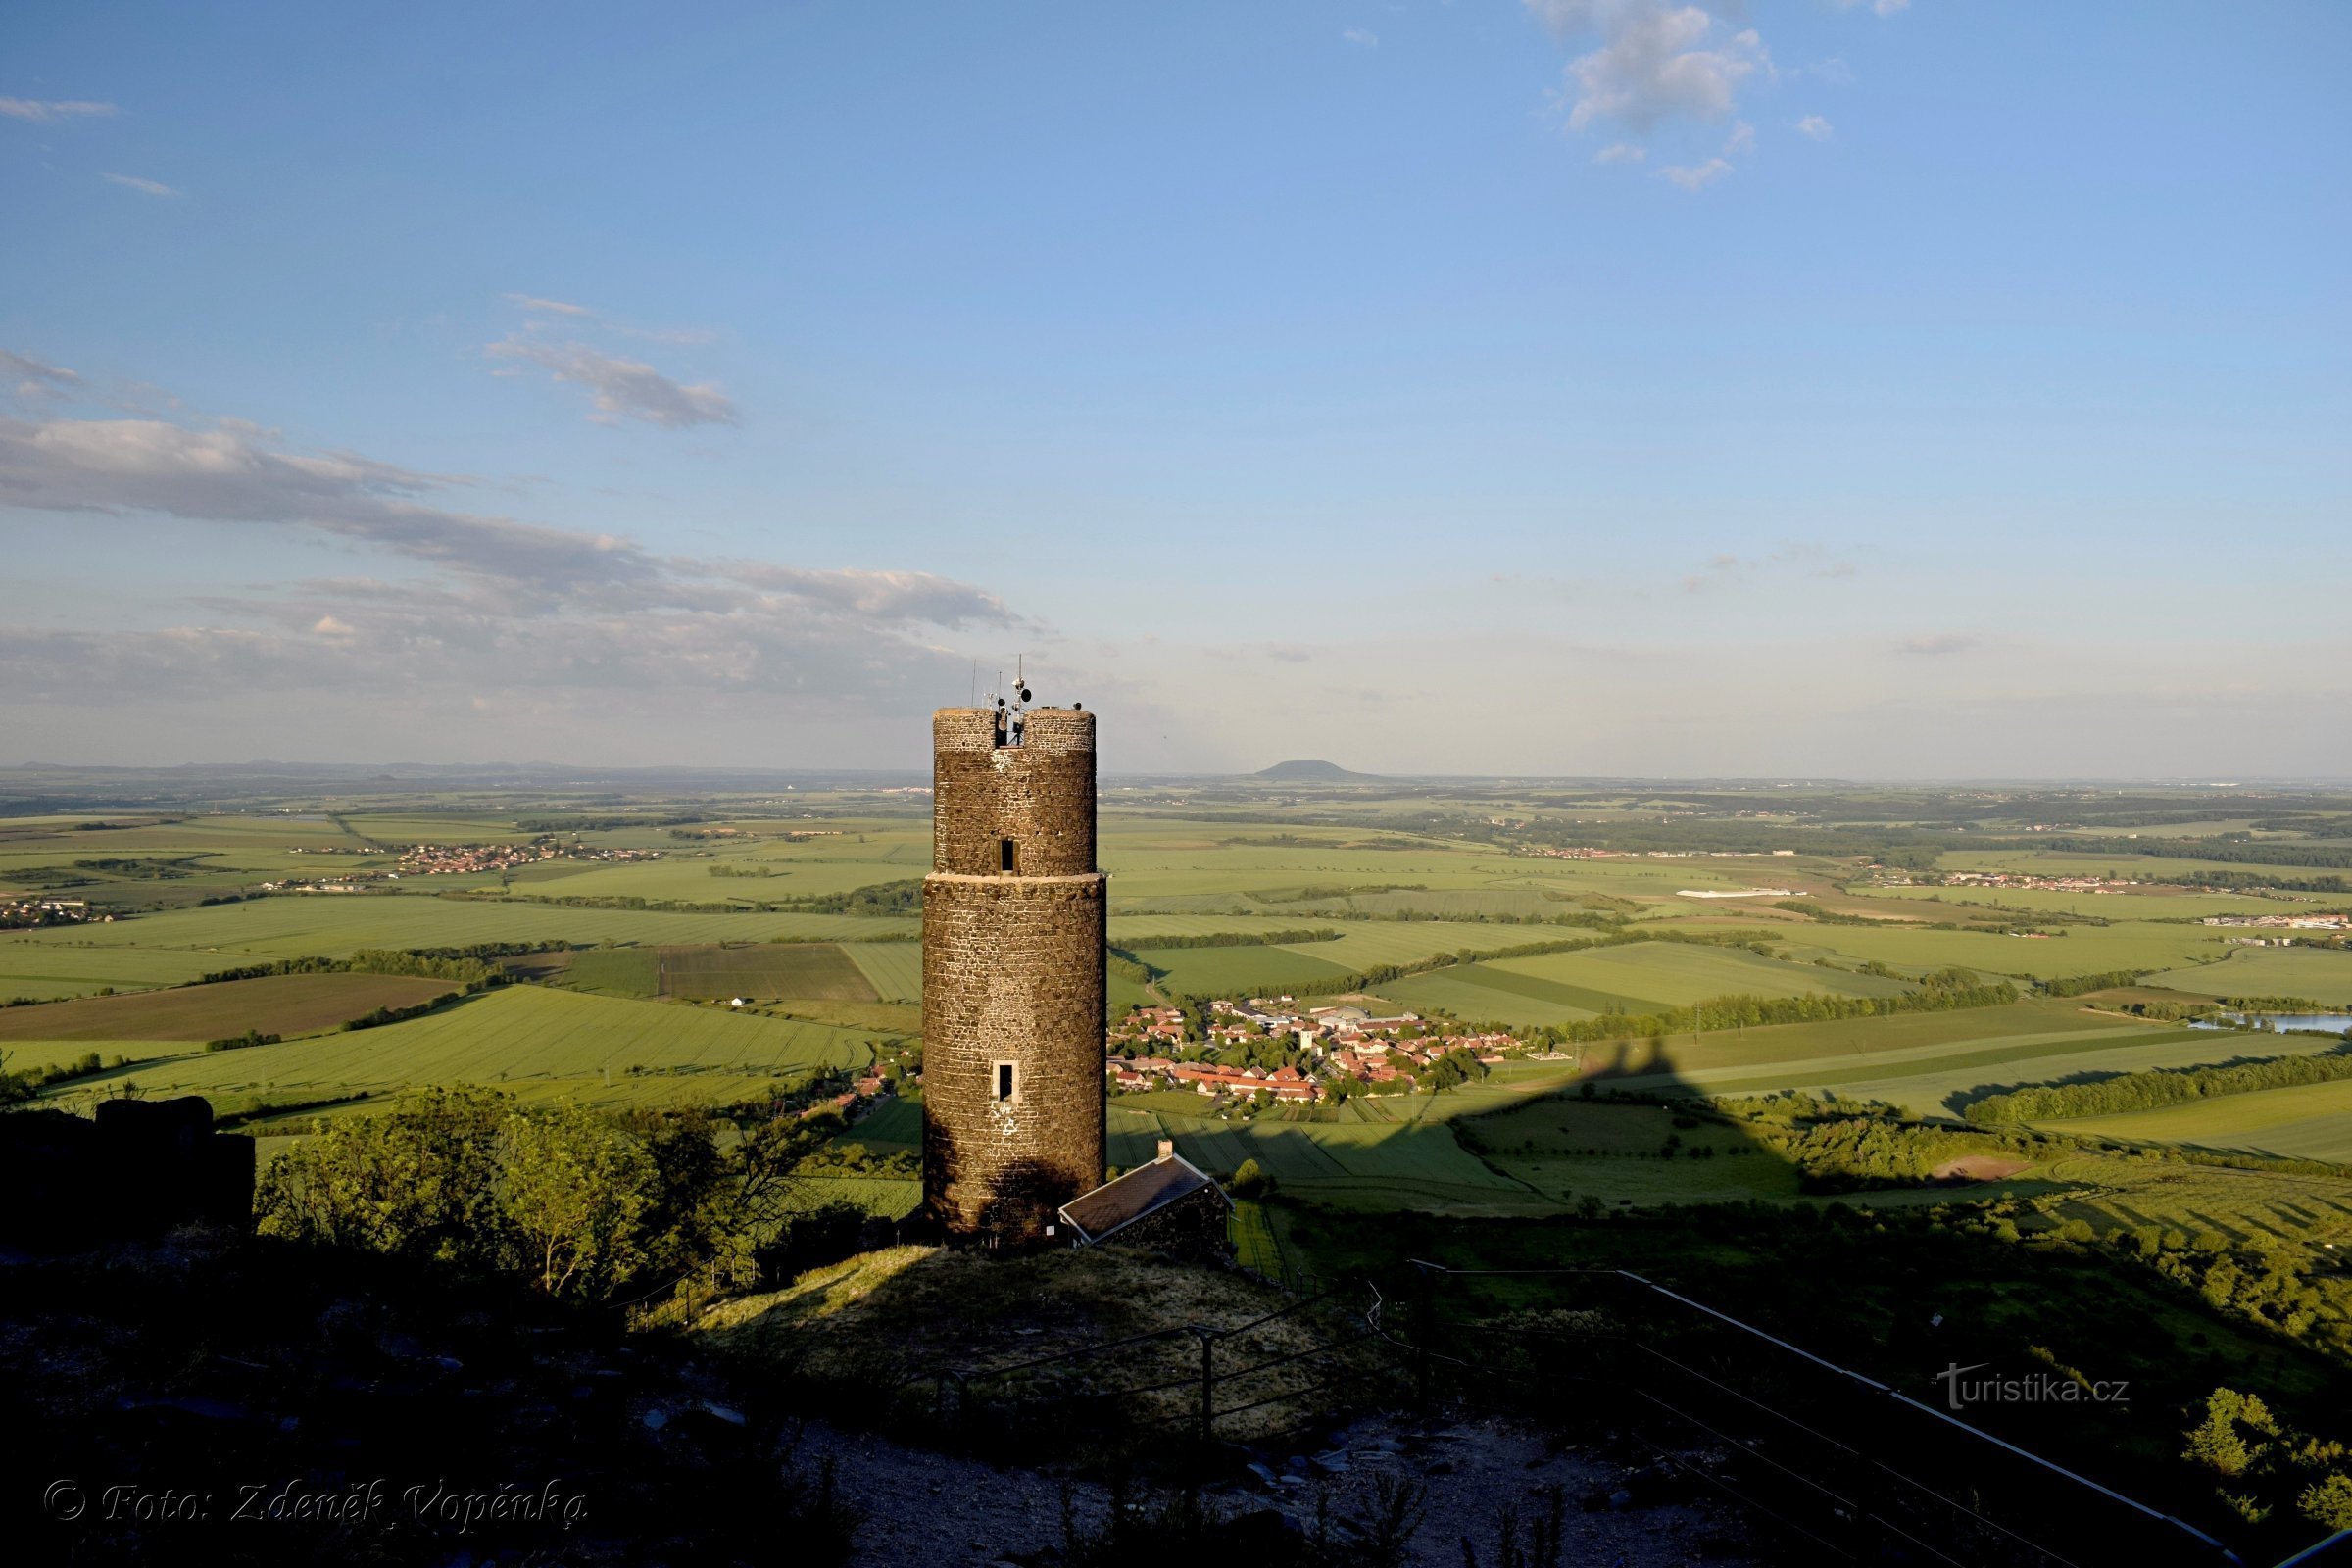
<svg viewBox="0 0 2352 1568"><path fill-rule="evenodd" d="M1538 1309L1454 1316L1538 1286ZM1477 1392L1606 1427L1820 1561L2244 1568L2204 1530L1623 1269L1446 1269L1374 1314L1423 1401ZM1477 1354L1454 1347L1475 1342Z"/></svg>

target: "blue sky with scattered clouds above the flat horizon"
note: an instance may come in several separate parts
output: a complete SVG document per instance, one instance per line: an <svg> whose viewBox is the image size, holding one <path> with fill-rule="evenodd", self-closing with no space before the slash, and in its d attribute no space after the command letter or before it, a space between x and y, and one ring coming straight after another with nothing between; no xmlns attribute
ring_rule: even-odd
<svg viewBox="0 0 2352 1568"><path fill-rule="evenodd" d="M19 2L0 764L2352 776L2347 49Z"/></svg>

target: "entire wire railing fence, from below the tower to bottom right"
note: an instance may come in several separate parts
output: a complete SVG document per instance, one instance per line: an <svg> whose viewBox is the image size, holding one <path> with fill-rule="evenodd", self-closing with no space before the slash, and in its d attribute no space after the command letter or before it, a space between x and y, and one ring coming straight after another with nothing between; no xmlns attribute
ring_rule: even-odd
<svg viewBox="0 0 2352 1568"><path fill-rule="evenodd" d="M1625 1269L1414 1262L1402 1295L1277 1274L1291 1300L1249 1321L941 1371L934 1432L1275 1446L1348 1410L1472 1403L1616 1439L1806 1561L2244 1568L2183 1519Z"/></svg>

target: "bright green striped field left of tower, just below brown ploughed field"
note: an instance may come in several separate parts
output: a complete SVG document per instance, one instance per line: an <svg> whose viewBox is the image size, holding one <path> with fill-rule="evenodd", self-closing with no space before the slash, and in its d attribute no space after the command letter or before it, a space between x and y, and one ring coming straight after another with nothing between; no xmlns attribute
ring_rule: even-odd
<svg viewBox="0 0 2352 1568"><path fill-rule="evenodd" d="M830 1025L513 985L381 1030L141 1063L82 1079L73 1093L111 1093L127 1077L155 1098L207 1095L214 1110L360 1088L381 1098L421 1084L489 1084L524 1100L583 1105L687 1105L868 1060L866 1037Z"/></svg>

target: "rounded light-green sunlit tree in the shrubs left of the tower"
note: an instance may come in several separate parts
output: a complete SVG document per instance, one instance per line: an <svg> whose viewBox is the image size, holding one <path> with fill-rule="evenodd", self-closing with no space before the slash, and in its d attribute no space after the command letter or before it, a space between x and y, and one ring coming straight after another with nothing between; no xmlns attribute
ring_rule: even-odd
<svg viewBox="0 0 2352 1568"><path fill-rule="evenodd" d="M567 1105L506 1119L506 1215L548 1295L604 1298L647 1258L656 1199L644 1145Z"/></svg>

